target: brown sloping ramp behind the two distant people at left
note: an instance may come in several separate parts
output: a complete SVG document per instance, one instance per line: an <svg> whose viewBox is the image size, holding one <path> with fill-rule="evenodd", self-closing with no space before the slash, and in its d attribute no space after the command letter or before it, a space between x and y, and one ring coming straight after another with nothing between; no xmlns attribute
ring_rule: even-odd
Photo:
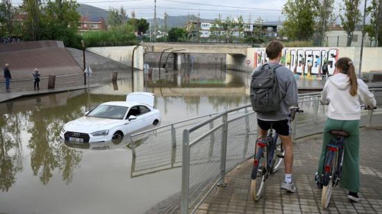
<svg viewBox="0 0 382 214"><path fill-rule="evenodd" d="M38 68L42 77L81 74L82 68L60 41L34 41L0 44L0 65L10 64L12 80L32 79Z"/></svg>

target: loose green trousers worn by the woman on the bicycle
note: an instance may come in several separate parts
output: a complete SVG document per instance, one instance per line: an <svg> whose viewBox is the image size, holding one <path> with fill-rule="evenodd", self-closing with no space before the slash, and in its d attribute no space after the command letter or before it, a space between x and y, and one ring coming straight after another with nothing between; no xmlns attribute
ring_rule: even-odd
<svg viewBox="0 0 382 214"><path fill-rule="evenodd" d="M333 120L326 119L324 127L324 139L322 144L321 156L318 163L318 174L322 174L324 169L324 159L326 154L326 145L329 144L334 135L331 130L343 130L349 133L344 138L344 161L342 163L340 186L351 192L359 192L360 176L359 176L359 120Z"/></svg>

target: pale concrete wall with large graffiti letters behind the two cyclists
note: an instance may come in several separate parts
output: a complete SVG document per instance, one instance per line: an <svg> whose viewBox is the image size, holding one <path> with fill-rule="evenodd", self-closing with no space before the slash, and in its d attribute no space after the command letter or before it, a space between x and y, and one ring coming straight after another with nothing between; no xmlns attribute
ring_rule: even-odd
<svg viewBox="0 0 382 214"><path fill-rule="evenodd" d="M333 74L334 64L341 57L349 57L353 60L356 72L358 72L360 47L285 47L281 64L292 71L296 69L298 74L308 72L308 66L312 66L312 74L319 74L324 60L329 62L329 73ZM301 60L305 58L304 64ZM265 48L249 48L247 52L249 66L258 67L267 60ZM246 60L246 61L247 61ZM362 72L382 71L382 47L364 47ZM242 64L244 65L244 64Z"/></svg>

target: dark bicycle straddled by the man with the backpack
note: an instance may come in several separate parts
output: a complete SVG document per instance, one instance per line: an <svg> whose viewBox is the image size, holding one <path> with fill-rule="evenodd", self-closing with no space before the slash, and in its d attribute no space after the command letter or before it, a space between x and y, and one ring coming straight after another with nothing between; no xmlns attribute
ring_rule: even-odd
<svg viewBox="0 0 382 214"><path fill-rule="evenodd" d="M294 120L295 113L303 113L304 110L300 110L299 107L290 108L291 121ZM254 166L251 173L251 196L254 201L258 201L263 190L265 189L265 181L270 174L274 174L283 161L285 151L279 135L272 129L272 124L269 128L269 132L265 138L258 138L256 140L257 151L254 156ZM260 172L260 176L258 173Z"/></svg>

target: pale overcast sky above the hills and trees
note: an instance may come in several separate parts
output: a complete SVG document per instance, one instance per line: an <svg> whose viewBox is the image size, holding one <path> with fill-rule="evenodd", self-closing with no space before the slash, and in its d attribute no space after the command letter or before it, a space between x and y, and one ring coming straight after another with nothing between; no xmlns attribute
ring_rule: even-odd
<svg viewBox="0 0 382 214"><path fill-rule="evenodd" d="M22 0L13 0L13 4L20 3ZM44 0L42 0L44 1ZM110 9L120 8L121 6L128 12L135 12L138 18L153 18L154 0L77 0L78 3L85 3L98 8ZM283 21L281 14L286 0L156 0L156 17L167 15L198 15L204 19L215 19L220 13L222 17L239 17L242 15L244 22L254 22L261 17L263 21ZM338 11L342 1L335 0L335 11ZM361 0L361 5L363 6ZM363 7L360 7L360 9Z"/></svg>

